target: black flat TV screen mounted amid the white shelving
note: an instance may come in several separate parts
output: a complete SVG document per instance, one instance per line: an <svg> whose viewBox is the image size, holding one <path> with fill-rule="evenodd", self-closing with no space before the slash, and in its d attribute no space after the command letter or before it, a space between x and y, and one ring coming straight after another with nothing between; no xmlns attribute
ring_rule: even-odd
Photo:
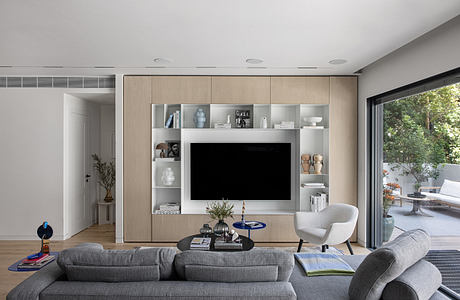
<svg viewBox="0 0 460 300"><path fill-rule="evenodd" d="M191 143L191 200L291 200L290 143Z"/></svg>

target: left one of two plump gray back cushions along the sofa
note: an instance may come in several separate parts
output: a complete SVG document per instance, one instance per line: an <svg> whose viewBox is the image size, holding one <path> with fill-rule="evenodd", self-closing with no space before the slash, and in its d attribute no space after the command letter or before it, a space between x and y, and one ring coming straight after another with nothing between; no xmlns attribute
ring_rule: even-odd
<svg viewBox="0 0 460 300"><path fill-rule="evenodd" d="M157 281L173 273L172 248L104 250L94 243L62 251L57 263L70 281Z"/></svg>

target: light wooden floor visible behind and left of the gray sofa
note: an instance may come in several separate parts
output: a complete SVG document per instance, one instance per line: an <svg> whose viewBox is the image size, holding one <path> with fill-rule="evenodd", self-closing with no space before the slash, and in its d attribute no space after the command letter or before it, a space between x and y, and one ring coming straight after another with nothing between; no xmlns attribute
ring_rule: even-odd
<svg viewBox="0 0 460 300"><path fill-rule="evenodd" d="M51 240L51 251L62 251L83 242L100 243L105 249L131 249L137 246L171 247L172 243L125 243L116 244L114 225L94 225L66 241ZM310 245L305 244L304 247ZM256 243L256 247L297 247L296 243ZM348 254L345 244L336 248ZM352 244L355 254L368 254L369 250ZM34 272L10 272L8 267L19 259L40 250L40 241L0 241L0 299L5 299L8 292Z"/></svg>

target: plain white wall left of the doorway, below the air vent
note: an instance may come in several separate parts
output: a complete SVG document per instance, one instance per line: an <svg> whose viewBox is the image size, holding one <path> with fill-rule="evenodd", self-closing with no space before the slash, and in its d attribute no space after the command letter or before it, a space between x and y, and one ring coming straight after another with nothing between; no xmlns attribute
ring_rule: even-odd
<svg viewBox="0 0 460 300"><path fill-rule="evenodd" d="M63 93L0 90L0 239L63 238Z"/></svg>

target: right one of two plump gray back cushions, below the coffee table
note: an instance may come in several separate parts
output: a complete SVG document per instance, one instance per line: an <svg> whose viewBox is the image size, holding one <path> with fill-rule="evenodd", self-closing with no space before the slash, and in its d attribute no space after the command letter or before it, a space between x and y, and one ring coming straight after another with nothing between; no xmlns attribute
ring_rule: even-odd
<svg viewBox="0 0 460 300"><path fill-rule="evenodd" d="M216 282L287 281L293 266L291 253L257 248L238 252L185 251L175 260L181 278ZM204 274L198 274L200 269Z"/></svg>

